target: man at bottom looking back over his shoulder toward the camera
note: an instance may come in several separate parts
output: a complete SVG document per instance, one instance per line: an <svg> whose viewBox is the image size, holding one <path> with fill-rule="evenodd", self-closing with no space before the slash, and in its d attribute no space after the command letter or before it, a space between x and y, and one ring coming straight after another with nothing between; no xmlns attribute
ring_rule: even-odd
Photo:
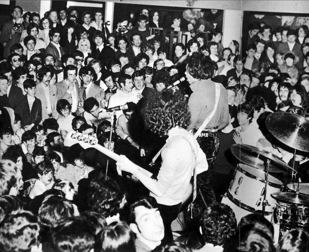
<svg viewBox="0 0 309 252"><path fill-rule="evenodd" d="M137 252L150 252L161 244L164 225L153 198L145 197L131 204L128 216L128 224L136 234Z"/></svg>

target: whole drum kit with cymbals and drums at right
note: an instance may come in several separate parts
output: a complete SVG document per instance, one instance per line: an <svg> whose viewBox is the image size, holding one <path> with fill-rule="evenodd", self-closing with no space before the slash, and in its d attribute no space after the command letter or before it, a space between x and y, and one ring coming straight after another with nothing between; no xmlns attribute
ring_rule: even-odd
<svg viewBox="0 0 309 252"><path fill-rule="evenodd" d="M299 115L275 112L266 118L266 127L273 137L294 149L293 167L271 152L232 145L231 152L239 164L222 203L231 206L238 222L250 213L273 219L280 225L280 238L293 228L309 229L309 183L298 180L284 187L276 178L277 174L289 171L293 177L296 150L309 152L309 121Z"/></svg>

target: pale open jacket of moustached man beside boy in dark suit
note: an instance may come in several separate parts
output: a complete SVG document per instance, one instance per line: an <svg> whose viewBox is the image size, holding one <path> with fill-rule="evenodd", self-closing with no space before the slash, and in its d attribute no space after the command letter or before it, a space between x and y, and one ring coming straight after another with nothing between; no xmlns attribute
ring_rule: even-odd
<svg viewBox="0 0 309 252"><path fill-rule="evenodd" d="M42 120L44 121L45 119L49 118L49 115L47 114L47 99L43 90L43 85L42 83L39 83L36 85L36 93L35 96L36 98L39 98L42 104ZM52 116L54 118L58 118L58 112L56 110L56 105L57 105L57 88L55 85L49 85L49 97L50 97L50 105L52 108Z"/></svg>

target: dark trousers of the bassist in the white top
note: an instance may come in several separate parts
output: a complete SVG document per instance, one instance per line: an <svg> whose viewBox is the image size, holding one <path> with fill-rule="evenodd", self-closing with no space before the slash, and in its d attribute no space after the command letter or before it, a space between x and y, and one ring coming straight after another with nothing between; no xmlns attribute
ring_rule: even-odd
<svg viewBox="0 0 309 252"><path fill-rule="evenodd" d="M164 238L161 241L161 245L166 245L173 241L173 234L171 229L171 223L175 220L180 212L181 202L177 205L166 206L158 204L163 224L164 224Z"/></svg>

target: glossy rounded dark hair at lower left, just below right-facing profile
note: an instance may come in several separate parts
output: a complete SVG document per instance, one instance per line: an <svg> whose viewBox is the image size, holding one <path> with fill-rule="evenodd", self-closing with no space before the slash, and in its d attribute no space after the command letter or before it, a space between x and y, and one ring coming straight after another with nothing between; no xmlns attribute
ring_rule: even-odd
<svg viewBox="0 0 309 252"><path fill-rule="evenodd" d="M38 219L41 224L55 228L64 223L66 218L74 216L73 204L57 195L47 196L39 208Z"/></svg>

